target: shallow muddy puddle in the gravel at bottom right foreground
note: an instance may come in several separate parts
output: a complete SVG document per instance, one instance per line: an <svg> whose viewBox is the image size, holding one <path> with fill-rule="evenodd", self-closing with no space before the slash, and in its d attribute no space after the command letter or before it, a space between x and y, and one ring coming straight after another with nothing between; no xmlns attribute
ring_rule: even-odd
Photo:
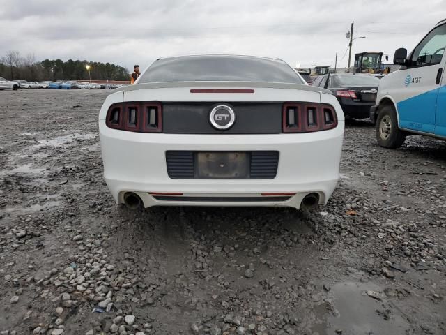
<svg viewBox="0 0 446 335"><path fill-rule="evenodd" d="M373 283L338 283L330 290L332 304L314 308L317 320L312 331L319 335L406 334L410 325L399 310L385 299L374 299L365 292L383 292ZM388 318L388 320L385 320Z"/></svg>

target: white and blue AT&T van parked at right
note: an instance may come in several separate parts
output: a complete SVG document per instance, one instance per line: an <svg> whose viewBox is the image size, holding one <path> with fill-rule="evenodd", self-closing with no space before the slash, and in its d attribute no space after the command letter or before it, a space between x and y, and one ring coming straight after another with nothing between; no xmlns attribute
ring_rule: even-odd
<svg viewBox="0 0 446 335"><path fill-rule="evenodd" d="M381 147L401 147L407 135L446 140L446 19L424 36L410 55L394 54L401 69L380 82L370 119Z"/></svg>

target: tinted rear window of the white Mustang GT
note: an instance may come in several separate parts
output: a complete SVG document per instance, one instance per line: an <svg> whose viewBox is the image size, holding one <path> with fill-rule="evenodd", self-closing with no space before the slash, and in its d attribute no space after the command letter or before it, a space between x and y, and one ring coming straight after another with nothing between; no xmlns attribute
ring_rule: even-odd
<svg viewBox="0 0 446 335"><path fill-rule="evenodd" d="M187 56L158 59L141 75L138 83L188 81L304 84L284 61L240 56Z"/></svg>

